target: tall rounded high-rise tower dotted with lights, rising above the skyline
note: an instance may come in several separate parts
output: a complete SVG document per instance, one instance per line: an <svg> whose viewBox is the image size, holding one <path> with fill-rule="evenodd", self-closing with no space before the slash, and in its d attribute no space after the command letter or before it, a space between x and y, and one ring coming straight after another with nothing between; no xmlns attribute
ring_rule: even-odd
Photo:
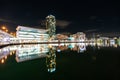
<svg viewBox="0 0 120 80"><path fill-rule="evenodd" d="M48 34L50 38L55 38L55 33L56 33L56 20L55 16L53 15L48 15L46 17L46 28L48 29Z"/></svg>

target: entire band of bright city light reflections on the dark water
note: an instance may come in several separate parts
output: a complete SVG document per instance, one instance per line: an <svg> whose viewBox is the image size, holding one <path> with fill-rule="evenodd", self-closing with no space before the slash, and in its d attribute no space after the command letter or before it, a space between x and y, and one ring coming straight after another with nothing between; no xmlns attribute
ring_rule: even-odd
<svg viewBox="0 0 120 80"><path fill-rule="evenodd" d="M0 61L5 63L9 55L15 54L16 62L24 62L37 58L46 58L46 67L48 72L56 70L56 52L65 50L77 51L77 53L84 53L87 51L86 47L92 46L98 49L102 47L115 47L115 43L61 43L61 44L30 44L30 45L14 45L7 46L0 49ZM96 60L96 57L92 57Z"/></svg>

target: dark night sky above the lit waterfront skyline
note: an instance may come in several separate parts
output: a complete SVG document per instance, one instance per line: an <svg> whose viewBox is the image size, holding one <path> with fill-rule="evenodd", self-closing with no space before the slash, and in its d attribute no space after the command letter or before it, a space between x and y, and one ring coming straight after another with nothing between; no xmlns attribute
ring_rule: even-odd
<svg viewBox="0 0 120 80"><path fill-rule="evenodd" d="M18 25L38 27L52 14L57 33L78 31L120 31L120 5L113 1L3 0L0 1L0 26L15 31Z"/></svg>

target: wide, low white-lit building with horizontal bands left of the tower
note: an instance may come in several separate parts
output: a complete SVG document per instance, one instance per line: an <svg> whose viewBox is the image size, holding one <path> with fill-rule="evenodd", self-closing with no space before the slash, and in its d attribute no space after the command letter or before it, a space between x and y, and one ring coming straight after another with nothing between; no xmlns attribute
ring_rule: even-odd
<svg viewBox="0 0 120 80"><path fill-rule="evenodd" d="M30 27L18 26L16 37L20 43L25 42L47 42L49 35L45 29L35 29Z"/></svg>

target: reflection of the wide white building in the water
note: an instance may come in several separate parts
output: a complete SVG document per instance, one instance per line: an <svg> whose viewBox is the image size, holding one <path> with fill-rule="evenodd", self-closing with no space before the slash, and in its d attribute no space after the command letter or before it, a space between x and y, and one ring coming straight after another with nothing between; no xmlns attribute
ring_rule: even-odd
<svg viewBox="0 0 120 80"><path fill-rule="evenodd" d="M48 51L47 44L19 45L16 50L16 61L22 62L45 57Z"/></svg>

